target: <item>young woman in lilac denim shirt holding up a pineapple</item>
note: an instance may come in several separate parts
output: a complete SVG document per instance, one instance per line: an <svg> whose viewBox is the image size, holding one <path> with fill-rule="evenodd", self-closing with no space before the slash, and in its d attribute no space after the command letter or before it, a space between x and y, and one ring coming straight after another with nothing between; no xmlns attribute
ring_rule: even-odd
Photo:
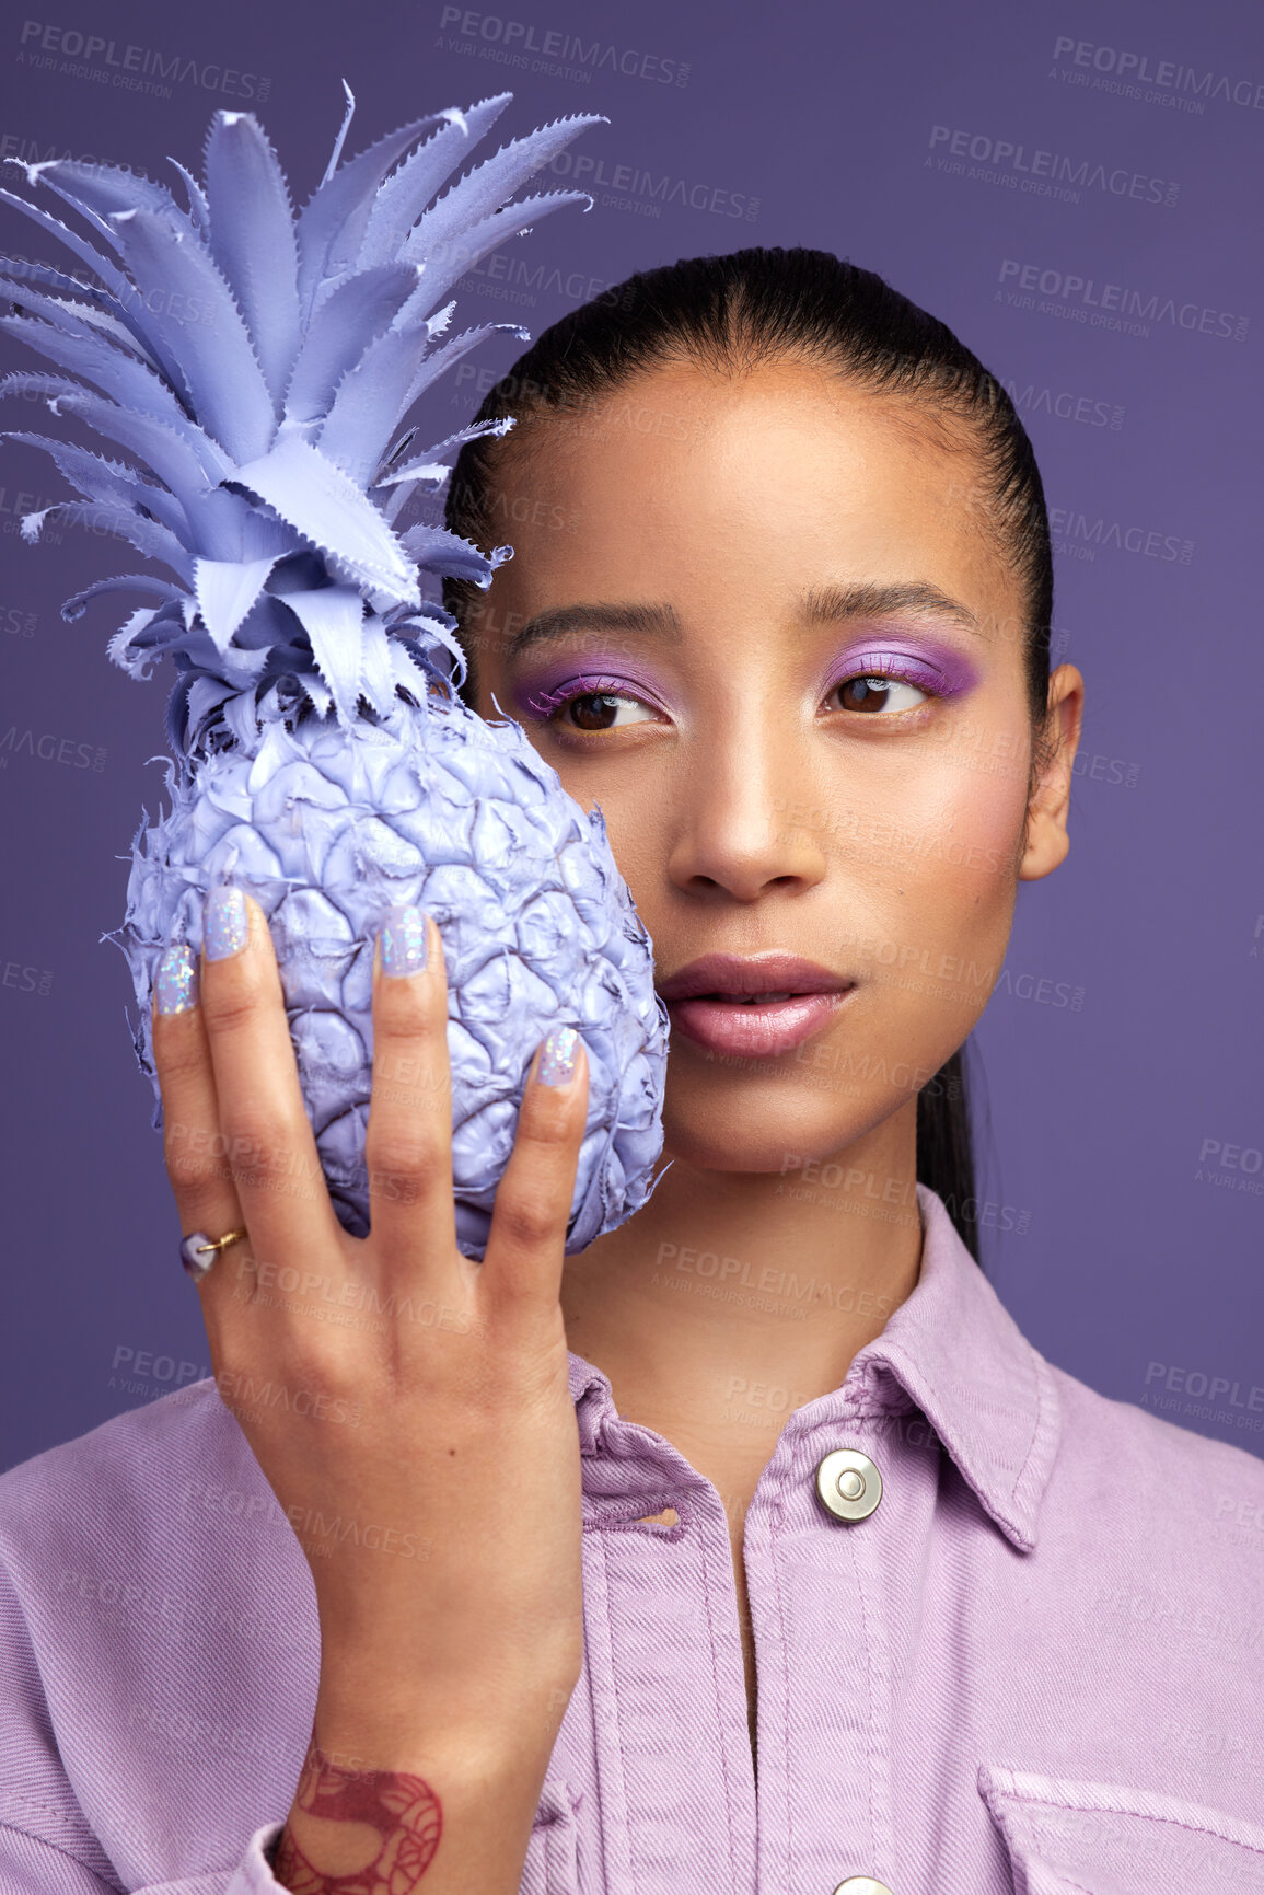
<svg viewBox="0 0 1264 1895"><path fill-rule="evenodd" d="M396 913L347 1237L220 896L157 1020L167 1126L263 1154L169 1150L182 1230L244 1232L216 1380L0 1484L0 1886L1264 1887L1219 1529L1264 1469L1050 1366L970 1254L959 1054L1082 709L1010 402L866 271L743 250L567 316L500 413L449 521L515 557L449 603L654 938L659 1182L563 1268L563 1033L462 1258L442 940Z"/></svg>

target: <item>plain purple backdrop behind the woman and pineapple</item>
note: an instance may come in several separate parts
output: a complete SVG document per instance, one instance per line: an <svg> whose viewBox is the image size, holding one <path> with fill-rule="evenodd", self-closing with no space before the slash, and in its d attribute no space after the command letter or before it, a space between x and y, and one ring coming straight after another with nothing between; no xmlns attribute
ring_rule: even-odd
<svg viewBox="0 0 1264 1895"><path fill-rule="evenodd" d="M27 4L34 28L21 9L0 28L4 155L169 176L167 153L197 163L212 110L258 108L305 197L343 76L351 150L512 89L487 152L605 112L559 171L605 169L580 178L589 216L561 210L466 279L466 324L538 334L637 267L804 243L889 277L1006 381L1054 510L1054 656L1082 667L1088 718L1071 857L1020 891L976 1035L987 1273L1054 1363L1264 1453L1264 896L1249 862L1264 15L1239 0L783 0L716 32L713 9L663 0L356 0L326 4L328 27L292 0ZM89 38L114 45L85 57ZM116 83L129 70L148 89ZM1061 195L1029 188L1042 174ZM0 248L55 262L17 212L0 218ZM1131 330L1093 322L1124 298ZM500 371L519 347L497 337L468 360ZM44 366L8 339L0 354ZM472 379L447 388L442 419L474 402ZM9 402L0 419L47 417ZM208 1372L125 963L100 942L140 809L155 811L146 758L167 684L106 661L108 603L59 620L74 587L136 565L74 529L25 548L17 515L61 496L42 455L0 449L0 1465ZM1175 1393L1186 1381L1201 1400Z"/></svg>

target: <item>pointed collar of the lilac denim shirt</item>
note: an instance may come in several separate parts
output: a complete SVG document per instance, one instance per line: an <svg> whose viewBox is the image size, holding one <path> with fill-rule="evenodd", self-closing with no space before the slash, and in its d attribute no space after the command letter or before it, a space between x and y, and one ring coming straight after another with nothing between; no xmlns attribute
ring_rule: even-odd
<svg viewBox="0 0 1264 1895"><path fill-rule="evenodd" d="M1054 1374L925 1184L917 1186L917 1207L923 1243L915 1289L857 1353L845 1381L798 1408L785 1435L919 1408L984 1512L1014 1546L1031 1552L1061 1429ZM616 1408L608 1378L574 1353L570 1395L580 1448L595 1453Z"/></svg>

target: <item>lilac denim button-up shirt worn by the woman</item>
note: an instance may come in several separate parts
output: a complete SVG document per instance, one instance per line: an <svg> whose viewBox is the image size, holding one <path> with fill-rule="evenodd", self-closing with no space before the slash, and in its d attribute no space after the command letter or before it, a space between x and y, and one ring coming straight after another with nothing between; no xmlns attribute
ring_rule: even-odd
<svg viewBox="0 0 1264 1895"><path fill-rule="evenodd" d="M586 1658L527 1895L1264 1891L1264 1465L1052 1368L919 1205L747 1516L758 1785L720 1495L570 1357ZM0 1891L277 1889L315 1592L214 1381L6 1474L0 1561Z"/></svg>

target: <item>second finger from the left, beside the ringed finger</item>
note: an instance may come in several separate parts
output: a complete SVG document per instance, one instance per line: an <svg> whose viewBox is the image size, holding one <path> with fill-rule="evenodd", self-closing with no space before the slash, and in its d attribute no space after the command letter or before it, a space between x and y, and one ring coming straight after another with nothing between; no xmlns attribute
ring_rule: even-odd
<svg viewBox="0 0 1264 1895"><path fill-rule="evenodd" d="M207 898L201 1010L220 1129L260 1260L345 1279L343 1232L307 1120L267 919L241 889Z"/></svg>

